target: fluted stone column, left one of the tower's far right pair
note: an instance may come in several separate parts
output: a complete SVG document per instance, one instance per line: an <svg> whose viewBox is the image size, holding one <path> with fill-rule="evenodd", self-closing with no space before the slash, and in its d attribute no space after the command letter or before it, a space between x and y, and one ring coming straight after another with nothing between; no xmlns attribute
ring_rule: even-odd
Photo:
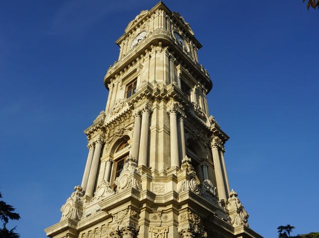
<svg viewBox="0 0 319 238"><path fill-rule="evenodd" d="M218 197L219 200L225 200L226 192L225 192L225 184L224 184L224 178L223 178L223 172L220 164L219 159L219 152L218 152L218 146L216 143L212 146L212 153L213 153L213 161L214 161L214 168L215 168L215 175L216 175L216 183L217 183L217 191L218 191Z"/></svg>

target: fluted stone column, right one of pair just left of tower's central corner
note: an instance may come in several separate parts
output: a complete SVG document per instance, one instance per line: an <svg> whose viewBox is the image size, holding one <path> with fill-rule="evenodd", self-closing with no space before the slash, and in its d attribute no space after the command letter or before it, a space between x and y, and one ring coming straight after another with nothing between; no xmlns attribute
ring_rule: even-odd
<svg viewBox="0 0 319 238"><path fill-rule="evenodd" d="M141 127L141 140L139 151L139 165L144 164L147 166L148 147L149 147L149 130L150 130L150 115L152 109L146 106L142 113L142 127Z"/></svg>

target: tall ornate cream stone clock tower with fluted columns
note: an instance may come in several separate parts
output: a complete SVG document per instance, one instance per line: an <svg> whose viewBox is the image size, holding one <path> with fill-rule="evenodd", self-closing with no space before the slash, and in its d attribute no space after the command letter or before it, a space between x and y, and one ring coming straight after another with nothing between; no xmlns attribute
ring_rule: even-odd
<svg viewBox="0 0 319 238"><path fill-rule="evenodd" d="M132 20L104 84L105 111L85 130L81 186L50 238L261 238L230 191L229 137L209 116L212 89L190 25L162 2Z"/></svg>

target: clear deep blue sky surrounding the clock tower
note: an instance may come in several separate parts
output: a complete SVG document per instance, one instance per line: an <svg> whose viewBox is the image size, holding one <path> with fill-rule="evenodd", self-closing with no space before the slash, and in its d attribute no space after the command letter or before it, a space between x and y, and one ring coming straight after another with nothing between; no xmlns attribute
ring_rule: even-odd
<svg viewBox="0 0 319 238"><path fill-rule="evenodd" d="M156 0L1 1L0 191L22 238L45 237L81 183L115 41ZM231 188L266 238L319 230L319 11L302 0L166 0L203 47ZM10 223L8 227L10 228Z"/></svg>

